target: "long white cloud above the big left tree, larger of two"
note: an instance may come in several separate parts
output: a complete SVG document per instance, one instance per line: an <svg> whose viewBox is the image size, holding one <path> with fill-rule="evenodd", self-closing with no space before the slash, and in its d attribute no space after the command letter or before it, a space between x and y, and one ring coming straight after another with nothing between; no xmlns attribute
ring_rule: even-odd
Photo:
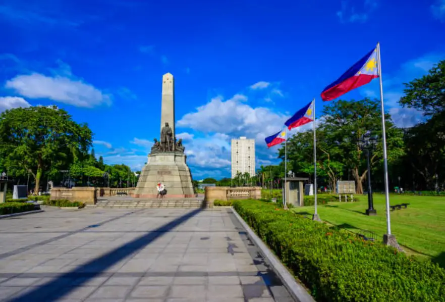
<svg viewBox="0 0 445 302"><path fill-rule="evenodd" d="M76 79L67 64L61 61L58 63L59 70L51 70L53 76L35 72L18 75L7 81L5 87L14 89L25 97L48 98L76 107L92 108L111 103L111 95L103 93L82 79Z"/></svg>

